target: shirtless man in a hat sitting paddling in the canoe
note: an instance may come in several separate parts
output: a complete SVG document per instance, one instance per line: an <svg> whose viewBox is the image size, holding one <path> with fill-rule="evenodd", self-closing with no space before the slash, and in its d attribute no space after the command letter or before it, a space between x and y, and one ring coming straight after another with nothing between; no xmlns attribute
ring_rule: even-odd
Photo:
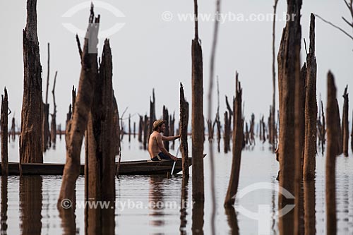
<svg viewBox="0 0 353 235"><path fill-rule="evenodd" d="M177 157L171 155L164 147L162 140L177 140L180 135L163 136L165 130L165 121L157 120L153 123L153 132L148 140L148 152L152 161L160 161L161 159L173 159L177 161Z"/></svg>

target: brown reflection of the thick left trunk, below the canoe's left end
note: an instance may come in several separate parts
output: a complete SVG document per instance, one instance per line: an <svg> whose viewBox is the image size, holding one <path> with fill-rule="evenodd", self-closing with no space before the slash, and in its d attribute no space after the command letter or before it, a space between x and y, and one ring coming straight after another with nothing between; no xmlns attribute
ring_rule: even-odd
<svg viewBox="0 0 353 235"><path fill-rule="evenodd" d="M20 176L20 212L22 234L40 234L42 176Z"/></svg>

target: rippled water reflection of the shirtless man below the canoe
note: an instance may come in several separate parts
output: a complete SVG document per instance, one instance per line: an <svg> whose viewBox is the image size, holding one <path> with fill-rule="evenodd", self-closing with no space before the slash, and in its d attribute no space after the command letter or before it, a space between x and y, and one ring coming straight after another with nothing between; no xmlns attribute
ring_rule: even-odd
<svg viewBox="0 0 353 235"><path fill-rule="evenodd" d="M152 218L149 222L154 227L164 225L164 212L163 212L163 176L150 176L150 190L148 192L148 203L153 205L149 207L148 215Z"/></svg>

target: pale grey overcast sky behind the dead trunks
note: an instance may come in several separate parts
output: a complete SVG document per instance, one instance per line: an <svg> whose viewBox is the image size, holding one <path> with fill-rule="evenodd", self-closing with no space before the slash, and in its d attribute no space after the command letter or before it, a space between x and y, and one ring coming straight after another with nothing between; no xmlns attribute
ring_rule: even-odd
<svg viewBox="0 0 353 235"><path fill-rule="evenodd" d="M287 11L286 2L282 0L278 4L277 13L280 16ZM79 4L82 3L85 3L87 8L80 9ZM178 14L193 13L193 1L104 0L93 1L93 3L97 6L95 13L101 15L101 31L109 34L109 30L114 31L114 26L119 27L119 24L124 24L120 30L109 35L114 66L113 84L119 112L123 112L128 107L127 114L145 114L149 109L152 88L155 88L157 117L162 114L163 104L169 108L169 112L176 111L178 116L180 82L184 84L186 98L191 102L191 40L193 39L193 22L191 20L181 22ZM63 128L68 104L71 102L71 87L78 86L80 74L80 59L75 35L67 29L67 24L70 23L71 28L73 25L78 30L85 30L88 23L89 4L89 1L82 0L37 1L43 98L47 80L47 42L49 42L51 47L49 94L52 90L54 73L57 70L59 73L56 80L58 112L56 119L57 123L63 123ZM213 14L215 11L215 1L199 1L198 5L199 13ZM0 1L0 88L1 94L4 86L8 89L9 107L16 112L18 125L20 125L23 97L22 30L25 28L25 8L25 0ZM215 64L215 74L220 78L221 117L225 111L225 95L228 97L234 95L236 70L239 71L243 87L246 119L250 118L251 112L256 114L256 120L259 119L259 114L268 116L273 92L272 21L261 20L261 14L272 12L272 0L222 0L225 22L220 25ZM347 27L341 19L341 16L345 16L352 20L343 0L304 0L301 12L302 37L305 37L307 42L311 12L340 25L353 35L352 28ZM63 17L65 13L66 16L72 16ZM260 19L249 20L251 13L256 14ZM170 18L171 14L172 18ZM237 21L234 21L234 15L237 16ZM244 20L240 21L242 16ZM169 21L164 20L163 17ZM213 35L213 22L206 21L199 23L204 60L205 102ZM64 27L65 23L66 27ZM276 23L276 56L284 25L284 21ZM83 42L82 37L80 40ZM103 40L101 38L100 42ZM353 88L352 49L351 39L316 19L318 97L321 93L325 104L326 74L331 69L336 79L341 112L342 92L345 85L349 85L349 94ZM102 45L99 48L99 54L101 53ZM304 60L305 51L302 44L301 64ZM349 95L349 97L352 96ZM216 95L214 98L216 101ZM50 112L52 112L51 95L49 95L49 101ZM215 110L216 107L214 106L213 109ZM352 119L351 115L352 112L349 111L349 119ZM137 115L134 116L133 121L138 121Z"/></svg>

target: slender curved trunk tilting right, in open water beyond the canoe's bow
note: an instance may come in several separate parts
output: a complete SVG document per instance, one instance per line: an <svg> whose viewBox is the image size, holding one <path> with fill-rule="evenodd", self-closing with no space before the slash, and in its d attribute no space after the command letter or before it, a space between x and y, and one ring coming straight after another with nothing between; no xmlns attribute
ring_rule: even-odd
<svg viewBox="0 0 353 235"><path fill-rule="evenodd" d="M241 112L241 85L238 81L238 74L236 79L236 95L233 102L234 119L233 119L233 160L232 160L232 171L229 179L228 190L225 198L225 207L232 207L237 194L239 184L239 171L241 162L241 149L243 148L243 117Z"/></svg>

